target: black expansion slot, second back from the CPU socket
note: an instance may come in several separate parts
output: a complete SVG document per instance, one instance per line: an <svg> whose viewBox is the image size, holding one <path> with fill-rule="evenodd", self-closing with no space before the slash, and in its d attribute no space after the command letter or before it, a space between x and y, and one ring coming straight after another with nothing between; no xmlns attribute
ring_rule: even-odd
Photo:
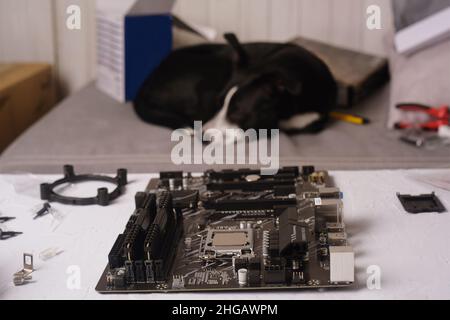
<svg viewBox="0 0 450 320"><path fill-rule="evenodd" d="M264 191L273 190L275 186L294 186L294 179L273 179L258 181L226 181L210 182L207 189L210 191L243 190L243 191Z"/></svg>

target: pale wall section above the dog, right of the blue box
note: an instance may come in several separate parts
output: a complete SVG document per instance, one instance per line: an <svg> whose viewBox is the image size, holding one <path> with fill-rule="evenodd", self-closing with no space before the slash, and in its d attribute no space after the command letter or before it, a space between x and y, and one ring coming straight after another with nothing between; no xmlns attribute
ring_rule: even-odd
<svg viewBox="0 0 450 320"><path fill-rule="evenodd" d="M366 28L366 9L382 9L382 30ZM385 53L390 0L177 0L188 21L236 32L243 41L286 41L301 35L368 53Z"/></svg>

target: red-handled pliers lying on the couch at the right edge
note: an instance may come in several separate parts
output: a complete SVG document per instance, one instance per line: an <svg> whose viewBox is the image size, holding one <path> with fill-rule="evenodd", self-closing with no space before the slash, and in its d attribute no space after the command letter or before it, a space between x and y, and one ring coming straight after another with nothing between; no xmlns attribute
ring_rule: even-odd
<svg viewBox="0 0 450 320"><path fill-rule="evenodd" d="M437 108L419 103L401 103L396 106L398 110L407 112L420 112L429 116L429 121L420 124L397 122L396 129L420 128L427 131L437 131L441 126L448 126L450 121L449 106Z"/></svg>

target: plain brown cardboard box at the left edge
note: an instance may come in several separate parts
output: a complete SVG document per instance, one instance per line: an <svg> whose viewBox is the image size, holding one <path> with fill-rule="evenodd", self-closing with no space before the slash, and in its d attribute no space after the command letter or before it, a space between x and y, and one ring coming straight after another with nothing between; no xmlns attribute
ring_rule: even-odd
<svg viewBox="0 0 450 320"><path fill-rule="evenodd" d="M0 152L54 104L50 65L0 64Z"/></svg>

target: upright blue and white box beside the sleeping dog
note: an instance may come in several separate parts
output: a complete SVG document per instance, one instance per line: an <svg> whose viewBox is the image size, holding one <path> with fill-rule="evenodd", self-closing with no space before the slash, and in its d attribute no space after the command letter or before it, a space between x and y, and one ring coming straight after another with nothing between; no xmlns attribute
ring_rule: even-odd
<svg viewBox="0 0 450 320"><path fill-rule="evenodd" d="M97 1L97 87L133 100L172 50L174 0Z"/></svg>

